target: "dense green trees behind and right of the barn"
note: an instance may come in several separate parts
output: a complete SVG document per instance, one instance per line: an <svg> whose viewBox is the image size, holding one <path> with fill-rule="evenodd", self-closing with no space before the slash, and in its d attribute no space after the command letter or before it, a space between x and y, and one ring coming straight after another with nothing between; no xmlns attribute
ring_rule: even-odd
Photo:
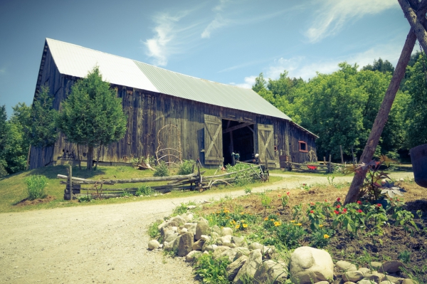
<svg viewBox="0 0 427 284"><path fill-rule="evenodd" d="M376 113L394 73L389 61L372 65L339 63L332 74L317 73L308 81L289 78L285 70L277 80L255 79L253 90L292 120L320 138L317 157L332 154L340 159L339 145L359 157L367 142ZM427 58L416 52L406 68L375 156L401 159L408 149L427 143Z"/></svg>

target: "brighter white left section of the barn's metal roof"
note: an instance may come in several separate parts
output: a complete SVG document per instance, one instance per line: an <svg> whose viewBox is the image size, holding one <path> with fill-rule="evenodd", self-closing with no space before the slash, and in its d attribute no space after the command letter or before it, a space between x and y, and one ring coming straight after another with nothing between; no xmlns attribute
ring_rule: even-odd
<svg viewBox="0 0 427 284"><path fill-rule="evenodd" d="M158 92L130 59L51 38L46 41L61 74L84 78L97 65L108 83Z"/></svg>

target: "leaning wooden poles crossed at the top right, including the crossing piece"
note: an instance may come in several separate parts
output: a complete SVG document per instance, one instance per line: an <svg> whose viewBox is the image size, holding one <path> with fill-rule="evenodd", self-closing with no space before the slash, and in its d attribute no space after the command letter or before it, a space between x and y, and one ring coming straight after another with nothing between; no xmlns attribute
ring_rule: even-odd
<svg viewBox="0 0 427 284"><path fill-rule="evenodd" d="M404 10L405 15L411 14L411 11L413 12L413 9L411 9L411 6L406 2L406 0L398 0L399 4L401 4L402 9ZM411 24L411 27L413 22L421 23L423 26L425 25L425 19L426 19L426 4L427 1L423 0L418 4L418 11L416 13L416 19L413 19L411 17L407 17L409 23ZM411 14L412 15L412 14ZM419 21L421 19L421 21ZM419 26L417 26L419 29ZM427 36L426 29L422 27L424 32L418 31L418 34L420 36L423 36L424 39ZM417 31L414 31L413 28L408 33L408 36L406 36L406 41L404 44L404 48L402 49L401 56L399 57L399 61L397 62L396 69L394 70L393 77L391 78L389 88L386 91L386 95L384 95L384 100L381 103L381 107L379 108L378 114L376 115L374 125L372 126L371 133L369 135L368 141L366 146L364 147L364 150L362 152L362 156L359 159L359 163L369 163L371 162L372 157L374 156L375 148L378 145L379 137L381 137L382 130L384 129L384 125L386 125L387 119L389 118L389 113L391 110L391 105L393 105L394 98L396 98L396 93L399 90L399 85L401 83L402 78L404 78L406 66L408 65L409 60L411 59L411 53L413 51L413 46L415 46L415 41L417 39L416 35ZM420 41L421 46L423 46L422 43L423 39ZM426 41L427 42L427 41ZM423 47L424 48L424 47ZM427 46L424 49L427 51ZM367 169L366 170L360 170L359 172L356 172L353 177L352 185L349 188L349 192L347 193L347 196L345 197L344 204L349 204L351 202L357 201L359 198L360 188L363 185L364 179L367 175Z"/></svg>

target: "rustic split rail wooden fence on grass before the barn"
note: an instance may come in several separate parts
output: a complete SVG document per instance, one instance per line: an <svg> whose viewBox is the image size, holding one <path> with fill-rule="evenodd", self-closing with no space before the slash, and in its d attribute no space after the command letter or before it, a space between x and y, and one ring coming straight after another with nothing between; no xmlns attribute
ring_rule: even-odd
<svg viewBox="0 0 427 284"><path fill-rule="evenodd" d="M204 191L204 189L210 189L211 186L218 183L229 184L229 182L233 182L236 177L224 178L230 176L232 174L237 174L239 172L246 172L249 170L253 170L255 173L255 169L258 169L259 166L249 167L247 169L242 169L237 172L230 172L226 174L218 174L216 173L213 176L203 176L204 172L200 172L200 168L198 167L198 171L194 174L188 175L176 175L171 177L144 177L138 179L81 179L78 177L73 177L72 167L70 166L68 169L68 176L58 174L58 179L64 179L60 181L60 184L65 184L64 190L64 199L70 200L75 199L80 196L87 196L90 194L93 198L110 198L110 197L118 197L124 193L128 194L136 194L138 188L122 188L122 189L109 189L106 186L111 186L115 184L137 184L144 182L168 182L167 184L158 185L158 186L150 186L151 189L157 191L159 193L166 193L172 190L199 190ZM257 176L265 181L265 176L262 173L257 173ZM71 190L70 190L71 189ZM70 195L71 192L71 195Z"/></svg>

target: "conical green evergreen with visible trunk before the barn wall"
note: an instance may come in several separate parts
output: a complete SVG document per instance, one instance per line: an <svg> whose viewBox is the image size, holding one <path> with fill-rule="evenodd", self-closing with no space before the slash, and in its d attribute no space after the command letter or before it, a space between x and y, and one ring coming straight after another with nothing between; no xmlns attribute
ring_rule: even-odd
<svg viewBox="0 0 427 284"><path fill-rule="evenodd" d="M73 85L57 120L68 141L88 146L87 169L92 169L93 148L122 139L126 123L122 99L102 81L97 66Z"/></svg>

